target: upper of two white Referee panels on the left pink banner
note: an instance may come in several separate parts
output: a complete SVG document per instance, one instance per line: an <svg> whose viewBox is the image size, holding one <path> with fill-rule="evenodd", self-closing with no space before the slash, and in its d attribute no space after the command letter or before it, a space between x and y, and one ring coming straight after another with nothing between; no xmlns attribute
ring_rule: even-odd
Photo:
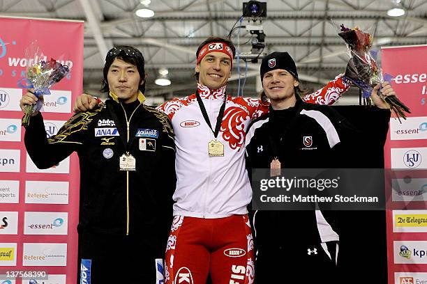
<svg viewBox="0 0 427 284"><path fill-rule="evenodd" d="M69 182L25 182L25 203L68 204Z"/></svg>

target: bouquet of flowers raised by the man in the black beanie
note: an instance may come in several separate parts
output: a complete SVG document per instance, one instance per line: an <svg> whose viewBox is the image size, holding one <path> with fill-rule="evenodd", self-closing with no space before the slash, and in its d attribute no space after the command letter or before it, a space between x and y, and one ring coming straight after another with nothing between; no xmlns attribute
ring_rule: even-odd
<svg viewBox="0 0 427 284"><path fill-rule="evenodd" d="M358 28L347 29L344 24L340 26L338 36L345 41L349 54L345 70L345 77L350 80L354 86L363 90L364 98L370 98L373 86L382 84L384 81L380 68L376 63L377 52L372 50L373 38L369 33L359 30ZM394 96L384 96L379 92L380 97L387 104L387 107L393 111L398 118L406 119L405 112L411 113L403 102ZM370 102L370 100L368 100Z"/></svg>

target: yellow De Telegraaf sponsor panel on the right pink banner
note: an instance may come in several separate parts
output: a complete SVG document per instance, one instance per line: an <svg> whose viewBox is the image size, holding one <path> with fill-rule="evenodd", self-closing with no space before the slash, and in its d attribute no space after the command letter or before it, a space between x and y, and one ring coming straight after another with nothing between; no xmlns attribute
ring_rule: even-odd
<svg viewBox="0 0 427 284"><path fill-rule="evenodd" d="M393 210L393 232L427 232L427 210Z"/></svg>

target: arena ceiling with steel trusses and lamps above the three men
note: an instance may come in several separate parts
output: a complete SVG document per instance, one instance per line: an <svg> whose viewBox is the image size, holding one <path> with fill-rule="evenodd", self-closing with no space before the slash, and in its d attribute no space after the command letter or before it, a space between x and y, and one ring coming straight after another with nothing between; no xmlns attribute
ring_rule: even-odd
<svg viewBox="0 0 427 284"><path fill-rule="evenodd" d="M427 1L402 0L406 14L390 17L396 0L268 0L263 52L287 51L297 61L304 86L320 88L345 70L346 48L332 20L345 26L373 29L375 48L427 43ZM0 0L0 15L85 21L84 90L98 93L105 54L114 45L133 45L146 59L147 97L153 104L188 95L195 89L195 51L209 36L227 36L242 15L237 0L151 0L151 18L135 11L140 0ZM242 25L248 22L244 20ZM251 23L254 24L254 23ZM256 22L255 25L259 25ZM237 36L239 34L239 40ZM250 52L253 36L237 29L233 41ZM246 65L240 62L241 84ZM258 63L259 64L259 63ZM244 95L255 95L259 65L248 63ZM234 61L229 93L237 93L238 62ZM158 70L167 68L170 86L157 86ZM259 85L259 84L258 84ZM259 88L259 86L258 86ZM357 97L350 90L347 97ZM356 102L357 100L353 100Z"/></svg>

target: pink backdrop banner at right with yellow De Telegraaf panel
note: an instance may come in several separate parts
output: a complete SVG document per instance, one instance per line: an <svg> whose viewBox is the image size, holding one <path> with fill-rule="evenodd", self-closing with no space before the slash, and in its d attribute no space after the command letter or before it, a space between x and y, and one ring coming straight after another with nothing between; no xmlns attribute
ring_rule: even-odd
<svg viewBox="0 0 427 284"><path fill-rule="evenodd" d="M383 75L411 114L391 118L385 166L389 182L387 210L389 283L427 283L427 46L382 49Z"/></svg>

